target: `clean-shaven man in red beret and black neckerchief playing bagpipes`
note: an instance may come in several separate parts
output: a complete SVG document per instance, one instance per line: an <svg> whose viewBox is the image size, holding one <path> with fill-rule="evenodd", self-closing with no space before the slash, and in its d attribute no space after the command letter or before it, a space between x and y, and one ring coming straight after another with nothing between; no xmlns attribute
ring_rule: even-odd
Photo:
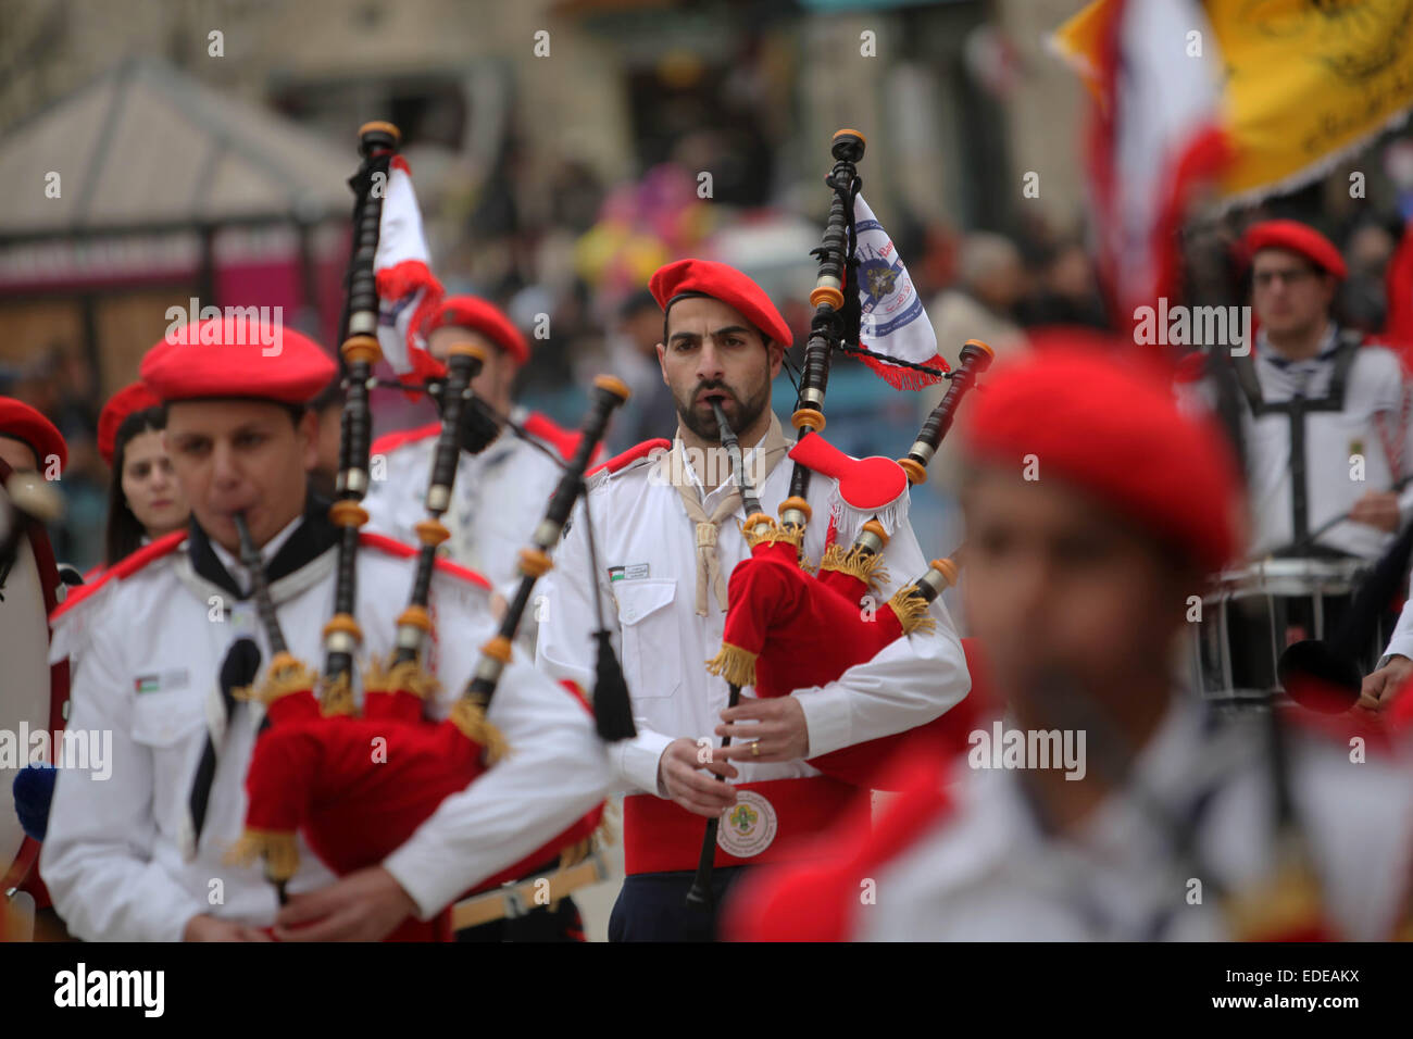
<svg viewBox="0 0 1413 1039"><path fill-rule="evenodd" d="M69 728L112 731L112 780L76 769L59 777L44 876L85 940L260 940L271 924L278 939L377 940L408 915L431 919L562 831L602 800L610 772L582 704L517 662L490 708L514 753L442 802L382 865L335 881L304 850L283 910L259 869L227 865L263 710L240 701L211 720L208 701L237 638L253 639L264 663L271 657L233 516L243 513L260 548L291 652L311 659L333 612L338 529L326 503L307 495L315 417L305 404L335 366L292 329L233 342L211 324L143 362L144 382L167 406L167 445L192 522L86 597L97 615ZM263 355L261 342L281 349ZM413 580L411 550L365 536L356 567L363 653L386 657ZM444 715L493 621L478 574L444 563L431 589L441 638L430 666L442 676L431 711ZM57 625L69 608L82 605L57 611ZM218 756L203 786L195 766L208 738ZM194 818L203 827L194 830Z"/></svg>

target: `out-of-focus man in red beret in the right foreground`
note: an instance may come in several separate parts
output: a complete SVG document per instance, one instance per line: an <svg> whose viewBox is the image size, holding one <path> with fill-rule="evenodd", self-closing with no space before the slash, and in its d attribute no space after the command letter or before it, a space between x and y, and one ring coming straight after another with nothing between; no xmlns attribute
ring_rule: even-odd
<svg viewBox="0 0 1413 1039"><path fill-rule="evenodd" d="M1259 728L1218 728L1164 667L1188 594L1238 548L1228 445L1176 409L1166 377L1063 335L998 366L969 414L964 599L1009 698L1007 755L1010 731L1022 746L1082 734L1081 752L1010 761L979 732L959 776L917 762L872 834L848 818L822 838L838 859L747 878L731 937L1390 936L1413 852L1407 775L1293 732L1279 770ZM1294 828L1273 823L1277 790ZM1310 872L1283 871L1299 845Z"/></svg>

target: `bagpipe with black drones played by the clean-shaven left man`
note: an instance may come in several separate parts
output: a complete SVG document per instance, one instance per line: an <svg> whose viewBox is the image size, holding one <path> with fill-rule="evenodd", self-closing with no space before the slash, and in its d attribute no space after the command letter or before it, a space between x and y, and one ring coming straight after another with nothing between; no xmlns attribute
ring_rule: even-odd
<svg viewBox="0 0 1413 1039"><path fill-rule="evenodd" d="M449 537L441 516L451 505L459 452L466 445L465 413L478 403L469 383L482 363L479 348L469 344L451 348L447 376L438 386L441 430L425 499L428 517L417 526L420 547L408 605L397 618L396 643L389 659L370 662L363 674L359 714L352 674L363 636L353 608L359 527L367 522L359 500L367 488L372 424L367 386L380 356L373 334L379 314L373 256L382 202L377 192L367 188L374 182L372 174L386 171L397 147L397 131L386 123L370 123L362 129L360 140L363 167L352 182L356 192L359 185L365 191L355 206L348 336L341 349L348 369L348 406L341 430L339 498L329 512L341 534L335 615L324 629L326 656L318 695L317 676L285 646L260 554L237 517L243 561L253 574L257 612L274 656L263 679L252 683L259 667L259 650L250 640L242 640L222 669L223 688L249 684L246 695L259 698L266 707L246 775L246 830L232 850L232 858L261 858L281 902L284 884L298 867L297 834L302 834L308 847L341 875L376 865L411 837L442 800L466 789L510 751L487 718L492 697L512 659L512 642L534 581L551 565L548 548L558 540L582 492L589 458L603 438L609 416L629 396L616 379L601 376L595 382L575 457L565 466L545 517L533 533L531 546L521 553L519 594L509 605L499 632L482 647L480 663L449 717L434 722L424 717L425 701L439 688L424 662L434 626L431 581L438 546ZM577 688L574 693L579 694ZM612 683L596 694L602 697L601 732L608 731L609 738L632 735L627 705L616 703ZM629 717L629 731L623 734L622 725L606 724L609 717ZM373 761L370 746L382 746L386 753ZM601 816L602 804L531 855L507 864L478 889L517 879L567 848L581 851L598 828ZM428 923L407 920L390 940L445 939L449 922L449 912Z"/></svg>

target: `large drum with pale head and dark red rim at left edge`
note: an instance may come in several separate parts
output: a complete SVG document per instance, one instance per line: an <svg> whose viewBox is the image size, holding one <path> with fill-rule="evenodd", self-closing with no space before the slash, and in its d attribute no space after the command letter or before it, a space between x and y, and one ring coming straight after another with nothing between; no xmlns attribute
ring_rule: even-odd
<svg viewBox="0 0 1413 1039"><path fill-rule="evenodd" d="M69 693L68 663L49 667L48 615L59 571L44 526L11 507L8 478L10 466L0 461L0 544L13 541L6 553L13 557L0 558L0 739L8 744L0 755L0 898L25 881L40 855L14 811L14 776L34 748L49 759ZM32 741L38 732L48 736Z"/></svg>

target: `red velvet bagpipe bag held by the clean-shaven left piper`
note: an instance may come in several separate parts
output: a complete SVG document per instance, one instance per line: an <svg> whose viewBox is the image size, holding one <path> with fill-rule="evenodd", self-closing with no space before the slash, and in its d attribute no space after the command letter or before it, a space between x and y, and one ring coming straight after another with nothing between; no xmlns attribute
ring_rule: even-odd
<svg viewBox="0 0 1413 1039"><path fill-rule="evenodd" d="M561 684L584 703L572 683ZM267 705L270 725L256 741L246 773L246 833L236 857L264 854L267 872L288 878L297 867L298 831L341 876L377 865L442 800L487 770L487 751L497 756L499 736L483 727L483 720L472 722L483 727L478 739L468 736L461 710L458 704L451 718L425 721L422 700L403 688L365 691L362 717L322 714L308 686L273 697ZM588 840L602 811L599 806L582 816L475 891L521 879L564 848ZM406 920L387 940L448 940L449 922L448 906L432 920Z"/></svg>

